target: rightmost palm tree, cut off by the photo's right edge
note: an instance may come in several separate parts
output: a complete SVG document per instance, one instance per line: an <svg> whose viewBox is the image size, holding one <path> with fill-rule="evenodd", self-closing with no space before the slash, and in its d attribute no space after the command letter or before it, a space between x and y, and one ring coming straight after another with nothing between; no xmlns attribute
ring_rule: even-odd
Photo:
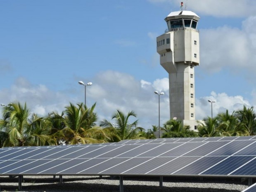
<svg viewBox="0 0 256 192"><path fill-rule="evenodd" d="M244 135L256 134L256 114L254 108L247 108L244 106L243 110L239 110L235 113L235 116L239 120L239 129L242 130Z"/></svg>

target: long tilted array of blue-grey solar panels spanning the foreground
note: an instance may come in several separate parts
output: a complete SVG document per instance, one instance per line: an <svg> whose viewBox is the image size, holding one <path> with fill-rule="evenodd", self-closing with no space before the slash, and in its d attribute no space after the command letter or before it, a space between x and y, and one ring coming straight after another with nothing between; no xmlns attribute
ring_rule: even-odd
<svg viewBox="0 0 256 192"><path fill-rule="evenodd" d="M92 145L5 147L0 175L256 177L256 137L161 138Z"/></svg>

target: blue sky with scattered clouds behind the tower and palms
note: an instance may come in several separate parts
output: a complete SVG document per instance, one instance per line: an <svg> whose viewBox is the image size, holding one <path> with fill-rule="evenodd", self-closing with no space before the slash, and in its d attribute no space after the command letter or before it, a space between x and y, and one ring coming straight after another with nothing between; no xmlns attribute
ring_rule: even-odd
<svg viewBox="0 0 256 192"><path fill-rule="evenodd" d="M168 73L156 37L180 0L0 0L0 103L61 113L96 102L98 120L135 111L138 126L170 118ZM199 15L196 119L256 105L256 1L183 0ZM132 121L133 119L131 119ZM99 122L98 121L98 122ZM114 122L114 121L113 121Z"/></svg>

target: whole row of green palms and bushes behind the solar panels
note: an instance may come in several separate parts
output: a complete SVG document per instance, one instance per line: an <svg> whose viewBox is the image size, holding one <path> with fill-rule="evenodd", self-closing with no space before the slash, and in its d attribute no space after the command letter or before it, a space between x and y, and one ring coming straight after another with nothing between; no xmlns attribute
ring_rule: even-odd
<svg viewBox="0 0 256 192"><path fill-rule="evenodd" d="M116 110L111 117L114 123L107 119L98 122L95 106L96 103L90 108L83 103L69 103L61 114L51 112L40 117L31 113L26 103L9 103L2 108L0 147L89 144L156 138L158 126L152 126L147 132L138 127L135 111L124 114ZM198 132L194 132L188 126L183 126L181 120L168 120L160 128L163 131L161 137L256 135L256 113L253 107L244 106L232 114L227 110L214 118L206 117L198 123Z"/></svg>

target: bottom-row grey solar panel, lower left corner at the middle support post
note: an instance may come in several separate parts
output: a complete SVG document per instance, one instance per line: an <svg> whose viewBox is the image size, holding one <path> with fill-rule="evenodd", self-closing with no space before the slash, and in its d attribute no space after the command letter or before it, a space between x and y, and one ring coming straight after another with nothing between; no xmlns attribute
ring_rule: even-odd
<svg viewBox="0 0 256 192"><path fill-rule="evenodd" d="M154 168L159 167L173 160L174 158L175 157L156 157L154 159L150 159L149 161L144 161L143 164L140 164L138 167L125 171L124 174L128 174L128 175L129 174L130 175L145 174L149 171L152 171Z"/></svg>

